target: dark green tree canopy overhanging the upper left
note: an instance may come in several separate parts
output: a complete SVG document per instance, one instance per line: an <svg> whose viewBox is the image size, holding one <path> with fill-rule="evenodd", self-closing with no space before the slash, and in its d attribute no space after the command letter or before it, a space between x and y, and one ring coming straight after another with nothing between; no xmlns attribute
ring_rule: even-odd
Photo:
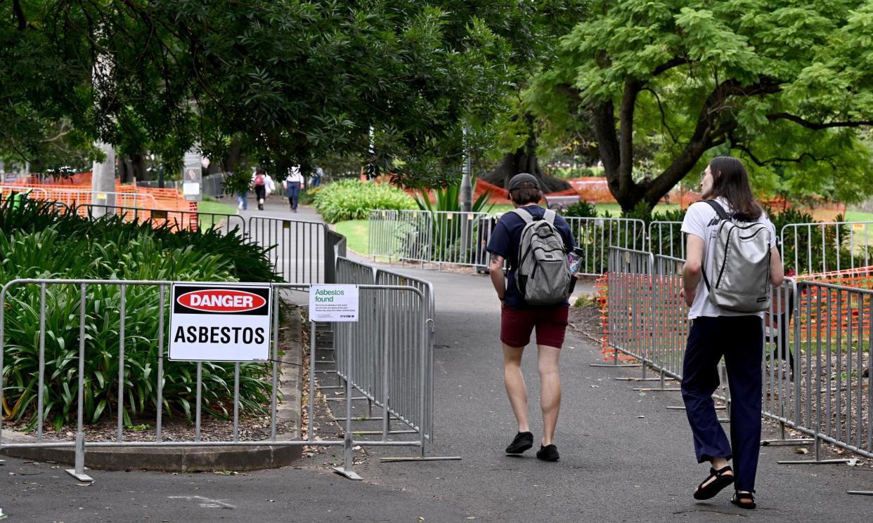
<svg viewBox="0 0 873 523"><path fill-rule="evenodd" d="M278 168L352 153L427 181L460 161L462 120L505 103L540 3L3 2L0 149L40 156L63 122L167 159L198 142Z"/></svg>

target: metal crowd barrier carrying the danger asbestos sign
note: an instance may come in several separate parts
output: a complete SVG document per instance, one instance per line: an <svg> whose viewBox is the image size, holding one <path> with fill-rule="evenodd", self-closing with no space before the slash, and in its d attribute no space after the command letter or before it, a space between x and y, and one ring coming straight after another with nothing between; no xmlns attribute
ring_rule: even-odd
<svg viewBox="0 0 873 523"><path fill-rule="evenodd" d="M183 447L183 446L292 446L292 445L330 445L342 446L345 451L344 466L338 469L338 472L347 475L347 477L356 478L356 474L352 470L352 453L356 445L397 445L397 446L412 446L420 447L422 452L428 438L423 427L429 422L426 419L429 415L427 404L432 396L431 382L428 379L427 362L430 357L430 347L427 343L428 321L426 311L428 309L425 295L420 289L409 286L399 285L360 285L361 293L361 308L360 320L357 323L342 323L338 325L338 336L335 340L337 350L342 354L341 366L336 371L342 377L351 377L358 379L366 378L369 383L374 384L373 396L378 399L383 405L383 429L378 432L377 438L358 438L352 428L354 418L352 412L352 386L353 379L346 381L346 417L345 431L343 438L333 439L316 439L313 431L313 418L308 418L308 438L304 439L299 436L302 432L296 431L296 438L290 439L278 438L277 434L277 404L280 401L278 397L278 318L279 318L279 300L273 300L272 310L272 347L271 361L265 363L186 363L186 362L168 362L165 363L164 355L166 354L166 343L168 339L167 332L167 313L166 310L171 306L168 303L167 294L169 286L173 282L166 281L118 281L118 280L37 280L37 279L22 279L14 280L3 285L0 289L0 369L6 369L0 373L0 404L8 397L11 391L20 390L16 383L10 383L12 377L15 376L14 366L22 361L20 355L16 355L11 351L17 350L17 347L22 346L22 341L15 338L21 336L16 332L14 325L20 323L20 318L16 319L17 311L30 307L31 314L37 314L38 310L38 370L34 372L35 376L29 379L38 381L36 391L36 406L33 409L33 417L36 425L36 438L33 441L11 442L8 438L4 438L3 433L3 417L0 417L0 450L14 448L38 448L38 447L67 447L75 449L75 468L70 472L79 480L91 480L84 472L85 453L87 448L96 447ZM284 290L303 290L310 288L308 284L293 284L293 283L272 283L272 292L278 294ZM28 293L30 291L30 293ZM64 294L62 297L61 294ZM113 299L105 300L107 295L113 295ZM76 303L74 307L78 310L77 313L72 313L72 318L78 316L77 319L68 321L66 316L65 323L73 323L67 331L59 333L53 332L52 336L47 333L47 314L46 308L49 304L55 304L67 300L68 302ZM92 329L91 323L95 322L93 316L93 300L100 299L104 314L113 316L118 319L118 329L110 339L97 339L94 336L87 335L86 332ZM153 323L149 323L151 331L144 331L143 323L139 322L138 316L141 315L141 309L135 309L131 305L131 312L127 312L128 301L142 306L143 303L148 303L155 307L155 316L151 318ZM108 305L111 303L112 305ZM117 304L117 305L116 305ZM34 305L36 309L31 307ZM11 317L11 319L10 319ZM11 324L10 324L11 322ZM78 323L78 325L76 325ZM57 328L57 325L48 325L50 328ZM315 332L317 325L311 323L310 332ZM370 344L361 343L361 340L366 339L362 336L367 329L376 329L381 343ZM34 329L35 330L35 329ZM77 334L78 333L78 336ZM67 343L61 343L60 340L67 339ZM310 336L310 378L308 383L309 391L309 412L314 412L314 387L315 387L315 338ZM24 343L30 343L28 339ZM102 343L102 344L101 344ZM117 347L116 353L107 353L107 348L113 344ZM100 346L98 346L100 345ZM75 349L78 347L78 350ZM10 354L7 355L7 352ZM99 351L97 355L95 351ZM153 370L150 365L144 367L134 364L134 357L142 356L143 351L147 354L153 354L155 358L154 365L156 372L151 375L154 380L154 389L141 391L129 386L132 373L141 372L147 377ZM114 434L113 441L87 441L86 433L88 432L85 425L84 405L87 401L86 380L91 382L93 377L86 377L86 358L100 356L100 359L107 358L107 364L110 368L118 367L118 373L115 377L112 375L105 376L110 390L117 390L114 397L119 398L115 405L115 418L118 420L117 429ZM10 363L10 366L4 367L5 362ZM75 362L75 363L72 363ZM58 365L67 365L69 368L62 372L62 376L58 375ZM75 364L75 366L73 366ZM196 368L196 384L195 391L190 388L182 387L175 389L175 392L168 392L165 389L165 371L167 365L190 365L193 370ZM215 386L216 382L206 383L203 379L203 369L206 365L210 365L210 370L216 371L221 367L223 372L227 374L224 382L233 383L233 421L232 421L232 438L229 441L203 441L201 438L201 419L204 408L209 408L209 404L204 404L204 398L212 397L208 387ZM240 400L240 375L243 365L260 365L262 368L260 378L266 386L270 384L269 404L260 404L259 406L264 411L269 411L270 415L270 438L266 439L245 439L239 430L239 417L243 407ZM232 370L231 370L232 367ZM216 371L217 372L217 371ZM64 379L75 379L77 384L72 387L65 387L62 383ZM250 377L251 379L251 377ZM88 384L87 386L94 386ZM62 433L52 433L46 436L44 431L45 419L50 415L52 409L60 408L58 404L52 403L47 397L49 393L66 395L77 409L76 433L74 438L67 438ZM164 405L172 404L175 399L183 397L185 401L192 394L196 395L193 407L196 412L195 416L195 436L191 440L173 440L169 441L162 438L162 419L164 414ZM24 392L23 392L24 393ZM179 397L173 396L178 394ZM144 396L144 397L141 397ZM13 398L15 399L15 398ZM139 438L136 441L127 438L129 434L125 431L125 409L126 404L131 400L141 402L138 404L148 404L155 409L155 431L154 439L150 441L141 438L142 432L138 431ZM193 399L193 398L191 398ZM16 402L13 401L13 404ZM31 403L32 404L32 403ZM30 404L28 404L30 405ZM112 408L109 405L108 408ZM408 425L415 431L416 438L400 439L396 434L400 432L391 431L388 425L390 416L401 419L404 424ZM302 427L301 427L302 428ZM8 431L7 431L8 432ZM368 432L368 434L372 434ZM293 435L292 435L293 436Z"/></svg>

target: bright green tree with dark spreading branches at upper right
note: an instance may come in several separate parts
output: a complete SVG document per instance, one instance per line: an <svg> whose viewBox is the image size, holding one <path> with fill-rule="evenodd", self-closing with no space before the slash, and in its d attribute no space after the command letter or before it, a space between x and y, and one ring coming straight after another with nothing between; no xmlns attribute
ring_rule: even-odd
<svg viewBox="0 0 873 523"><path fill-rule="evenodd" d="M653 207L714 153L795 197L873 191L860 138L873 124L873 3L598 0L591 12L528 98L590 120L625 210ZM643 178L646 149L657 170Z"/></svg>

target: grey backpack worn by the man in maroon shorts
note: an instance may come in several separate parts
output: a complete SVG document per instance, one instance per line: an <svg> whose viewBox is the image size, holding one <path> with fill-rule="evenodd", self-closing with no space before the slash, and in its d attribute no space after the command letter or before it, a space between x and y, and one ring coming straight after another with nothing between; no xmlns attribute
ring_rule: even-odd
<svg viewBox="0 0 873 523"><path fill-rule="evenodd" d="M554 227L554 211L546 210L541 219L534 219L533 214L523 208L513 212L525 221L519 243L519 268L515 272L519 292L525 302L532 305L563 302L567 299L571 276L564 239Z"/></svg>

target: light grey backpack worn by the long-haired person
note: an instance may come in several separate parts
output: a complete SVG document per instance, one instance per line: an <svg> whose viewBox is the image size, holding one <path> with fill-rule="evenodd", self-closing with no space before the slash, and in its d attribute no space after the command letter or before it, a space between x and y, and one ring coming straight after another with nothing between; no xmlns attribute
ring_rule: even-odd
<svg viewBox="0 0 873 523"><path fill-rule="evenodd" d="M770 228L764 223L738 222L714 200L718 233L712 258L713 274L704 282L710 302L736 312L760 312L770 307Z"/></svg>

